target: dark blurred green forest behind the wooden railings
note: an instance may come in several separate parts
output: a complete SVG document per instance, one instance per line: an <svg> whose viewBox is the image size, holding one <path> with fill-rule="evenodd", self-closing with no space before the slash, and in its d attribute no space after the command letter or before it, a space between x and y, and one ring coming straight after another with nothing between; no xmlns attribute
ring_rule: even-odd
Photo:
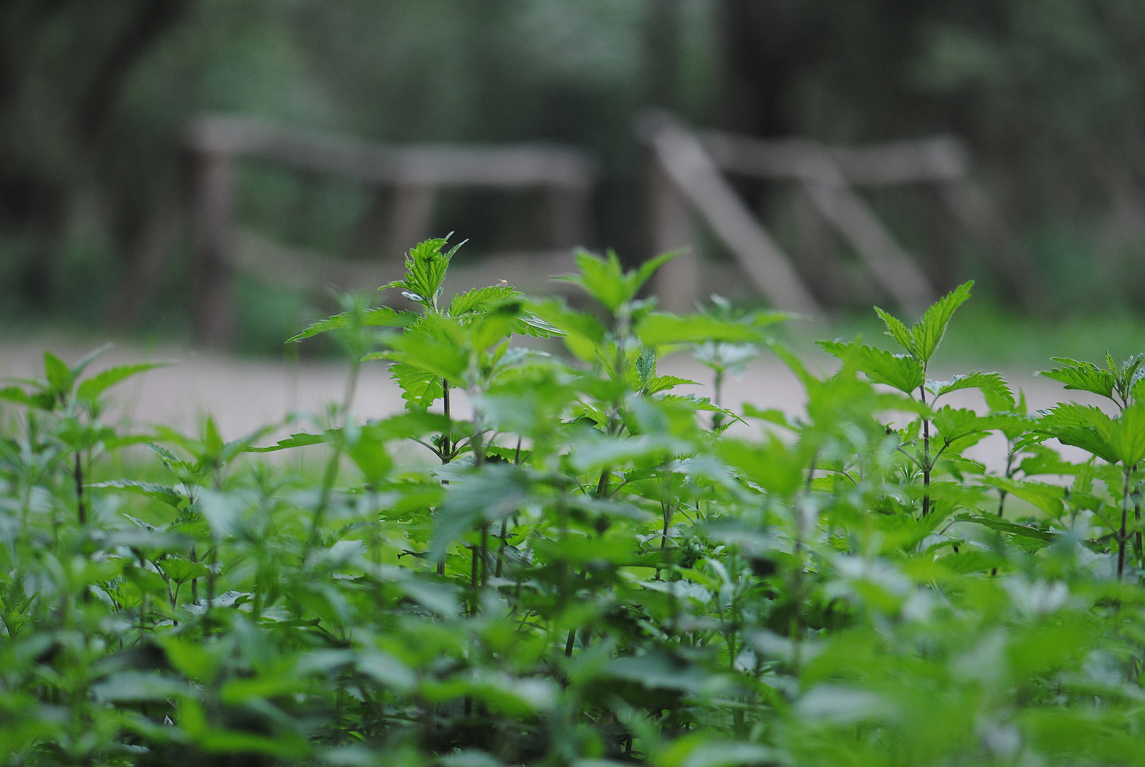
<svg viewBox="0 0 1145 767"><path fill-rule="evenodd" d="M106 333L203 112L382 142L583 147L602 171L586 245L639 262L652 255L648 157L633 121L653 105L760 136L956 135L1041 272L1045 316L1134 324L1145 310L1145 5L1131 0L10 0L0 327ZM276 242L397 258L355 237L366 190L242 173L239 216ZM743 191L782 219L776 195ZM876 201L917 250L917 209ZM480 254L521 246L528 220L513 195L456 195L434 230ZM958 276L1020 324L966 247ZM189 254L184 232L132 332L189 334ZM247 353L281 349L329 301L248 278L237 288Z"/></svg>

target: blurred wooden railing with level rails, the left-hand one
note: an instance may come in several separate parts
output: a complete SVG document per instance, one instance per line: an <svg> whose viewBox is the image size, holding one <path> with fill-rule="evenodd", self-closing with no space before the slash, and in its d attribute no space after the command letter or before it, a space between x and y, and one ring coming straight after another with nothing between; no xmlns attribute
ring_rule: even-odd
<svg viewBox="0 0 1145 767"><path fill-rule="evenodd" d="M387 147L355 139L293 131L232 117L203 117L188 129L190 189L185 195L195 240L195 329L208 346L224 347L234 334L230 294L236 267L271 282L315 280L314 287L338 278L357 287L379 269L396 276L401 253L429 236L434 198L447 189L535 189L545 197L551 250L530 253L534 271L564 270L571 247L587 242L589 205L597 168L583 151L547 144ZM277 247L235 219L235 164L243 158L270 160L310 173L348 177L392 192L387 258L392 262L354 263ZM137 275L129 276L121 302L131 315L155 283L164 242L177 231L181 206L157 216L155 235ZM166 238L166 239L165 239ZM143 238L148 240L148 237ZM551 255L546 263L540 254ZM558 263L559 262L559 263ZM497 269L520 269L522 258L495 259ZM482 269L481 272L490 269ZM500 272L497 272L498 275ZM507 274L505 278L518 275ZM376 280L377 282L377 280ZM380 282L377 282L380 284Z"/></svg>

